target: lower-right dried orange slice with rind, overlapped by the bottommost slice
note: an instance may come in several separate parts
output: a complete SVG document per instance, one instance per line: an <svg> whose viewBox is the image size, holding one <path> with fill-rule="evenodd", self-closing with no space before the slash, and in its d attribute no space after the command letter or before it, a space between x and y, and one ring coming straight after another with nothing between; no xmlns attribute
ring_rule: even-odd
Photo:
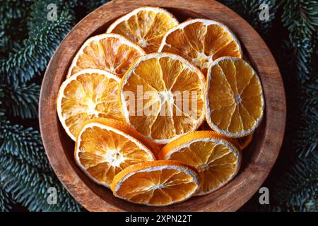
<svg viewBox="0 0 318 226"><path fill-rule="evenodd" d="M213 131L195 131L165 145L158 156L196 167L204 177L197 195L204 195L225 185L240 169L240 151L233 143Z"/></svg>

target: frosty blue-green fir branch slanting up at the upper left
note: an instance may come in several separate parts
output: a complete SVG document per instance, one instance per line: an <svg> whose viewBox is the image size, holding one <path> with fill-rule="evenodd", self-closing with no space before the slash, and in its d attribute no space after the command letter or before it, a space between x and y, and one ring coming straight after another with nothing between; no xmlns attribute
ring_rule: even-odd
<svg viewBox="0 0 318 226"><path fill-rule="evenodd" d="M40 73L59 42L71 28L72 16L61 13L57 21L45 21L29 34L20 49L13 49L8 59L0 59L1 80L17 86Z"/></svg>

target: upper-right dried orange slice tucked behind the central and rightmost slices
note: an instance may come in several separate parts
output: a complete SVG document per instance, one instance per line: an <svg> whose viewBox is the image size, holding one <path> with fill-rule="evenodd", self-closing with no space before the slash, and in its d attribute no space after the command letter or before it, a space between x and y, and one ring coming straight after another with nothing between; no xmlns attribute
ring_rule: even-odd
<svg viewBox="0 0 318 226"><path fill-rule="evenodd" d="M193 19L169 30L158 52L184 57L206 75L219 57L242 57L242 49L228 27L214 20Z"/></svg>

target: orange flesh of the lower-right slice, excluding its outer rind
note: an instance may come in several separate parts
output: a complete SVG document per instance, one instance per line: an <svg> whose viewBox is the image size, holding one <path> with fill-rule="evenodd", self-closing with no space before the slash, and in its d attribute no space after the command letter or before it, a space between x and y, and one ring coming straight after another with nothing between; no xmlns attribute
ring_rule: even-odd
<svg viewBox="0 0 318 226"><path fill-rule="evenodd" d="M223 144L196 141L172 153L169 160L178 160L196 167L204 176L199 194L218 189L237 171L237 156Z"/></svg>

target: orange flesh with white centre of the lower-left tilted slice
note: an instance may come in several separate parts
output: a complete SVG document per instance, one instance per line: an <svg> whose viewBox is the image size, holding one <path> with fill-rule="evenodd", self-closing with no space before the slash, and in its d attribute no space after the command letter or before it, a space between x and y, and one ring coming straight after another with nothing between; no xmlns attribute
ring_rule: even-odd
<svg viewBox="0 0 318 226"><path fill-rule="evenodd" d="M110 185L122 169L153 158L136 143L124 136L98 126L81 134L78 153L81 165L91 177Z"/></svg>

